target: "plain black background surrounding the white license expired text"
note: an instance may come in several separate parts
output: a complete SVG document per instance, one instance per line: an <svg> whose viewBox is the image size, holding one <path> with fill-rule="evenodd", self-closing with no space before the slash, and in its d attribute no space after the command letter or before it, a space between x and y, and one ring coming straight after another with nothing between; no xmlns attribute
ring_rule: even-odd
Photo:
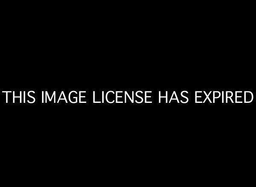
<svg viewBox="0 0 256 187"><path fill-rule="evenodd" d="M193 96L255 94L247 7L42 7L3 13L1 91L152 90L154 104L2 102L5 176L131 184L250 178L255 101L196 105ZM187 105L157 104L157 91L183 90Z"/></svg>

